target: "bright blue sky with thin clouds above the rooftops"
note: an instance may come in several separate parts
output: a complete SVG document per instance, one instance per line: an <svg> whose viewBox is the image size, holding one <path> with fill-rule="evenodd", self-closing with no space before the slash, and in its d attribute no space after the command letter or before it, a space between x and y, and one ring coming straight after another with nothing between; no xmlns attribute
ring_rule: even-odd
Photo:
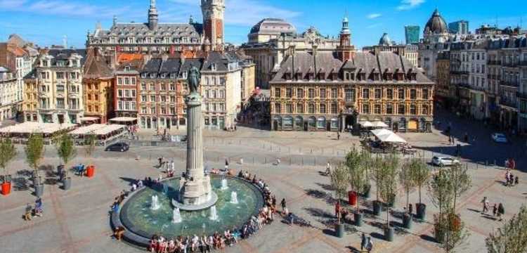
<svg viewBox="0 0 527 253"><path fill-rule="evenodd" d="M488 4L487 4L488 3ZM337 36L347 13L352 42L358 47L376 44L383 32L404 41L404 25L423 27L438 8L447 22L469 20L470 29L481 24L516 26L527 11L523 1L490 5L481 0L226 0L226 41L242 44L250 27L262 18L285 18L303 32L317 27L324 35ZM108 28L112 16L121 22L145 22L150 0L0 0L0 41L17 33L41 46L62 44L84 47L86 32L96 22ZM200 0L157 0L160 22L201 20Z"/></svg>

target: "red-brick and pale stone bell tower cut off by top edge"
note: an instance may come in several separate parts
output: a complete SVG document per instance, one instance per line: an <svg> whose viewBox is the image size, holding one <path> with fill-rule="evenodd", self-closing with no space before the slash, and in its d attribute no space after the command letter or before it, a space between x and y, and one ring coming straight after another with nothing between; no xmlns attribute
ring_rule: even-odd
<svg viewBox="0 0 527 253"><path fill-rule="evenodd" d="M201 0L204 39L209 40L214 50L221 50L225 43L223 31L225 24L225 0Z"/></svg>

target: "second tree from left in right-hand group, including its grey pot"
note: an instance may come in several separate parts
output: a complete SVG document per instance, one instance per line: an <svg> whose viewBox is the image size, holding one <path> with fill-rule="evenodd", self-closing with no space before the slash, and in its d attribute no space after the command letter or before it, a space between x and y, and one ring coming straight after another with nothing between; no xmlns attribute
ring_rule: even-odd
<svg viewBox="0 0 527 253"><path fill-rule="evenodd" d="M367 151L358 153L355 148L346 155L346 167L349 173L349 186L351 196L356 196L362 191L367 183L367 174L365 164L368 162L370 154ZM363 214L360 212L358 207L358 201L351 203L350 205L356 205L356 212L353 213L353 220L356 226L362 226Z"/></svg>

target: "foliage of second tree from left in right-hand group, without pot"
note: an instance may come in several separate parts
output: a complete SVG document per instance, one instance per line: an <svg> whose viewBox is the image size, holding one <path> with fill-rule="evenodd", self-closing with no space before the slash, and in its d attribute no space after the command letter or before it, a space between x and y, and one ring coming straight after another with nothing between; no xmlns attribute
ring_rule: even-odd
<svg viewBox="0 0 527 253"><path fill-rule="evenodd" d="M346 155L346 167L349 173L349 186L355 193L361 193L367 184L367 163L370 153L358 152L354 147ZM357 202L357 212L360 212Z"/></svg>

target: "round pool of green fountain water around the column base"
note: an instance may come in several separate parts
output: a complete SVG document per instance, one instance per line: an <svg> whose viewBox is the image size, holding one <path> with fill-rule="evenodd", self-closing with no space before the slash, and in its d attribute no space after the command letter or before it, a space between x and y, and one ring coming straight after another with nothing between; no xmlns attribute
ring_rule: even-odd
<svg viewBox="0 0 527 253"><path fill-rule="evenodd" d="M181 223L172 223L174 208L171 202L176 197L179 183L179 179L175 178L163 181L169 186L167 195L160 194L162 188L141 188L131 193L119 212L112 214L112 226L124 226L124 240L141 247L148 247L154 234L172 238L178 235L212 235L216 231L223 233L233 226L240 228L263 207L263 193L252 183L230 176L226 177L229 189L221 191L221 179L223 176L211 177L212 189L218 196L216 220L210 219L210 208L193 212L181 209ZM238 205L230 204L233 191L238 193ZM155 212L150 210L152 195L158 195L161 205Z"/></svg>

